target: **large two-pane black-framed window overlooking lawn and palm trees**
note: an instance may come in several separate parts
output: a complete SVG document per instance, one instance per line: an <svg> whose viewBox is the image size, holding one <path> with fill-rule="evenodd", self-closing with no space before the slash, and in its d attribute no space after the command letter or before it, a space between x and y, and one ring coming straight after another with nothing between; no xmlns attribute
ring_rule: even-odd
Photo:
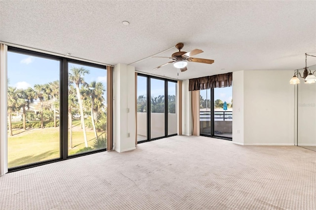
<svg viewBox="0 0 316 210"><path fill-rule="evenodd" d="M107 148L105 66L8 47L8 168Z"/></svg>

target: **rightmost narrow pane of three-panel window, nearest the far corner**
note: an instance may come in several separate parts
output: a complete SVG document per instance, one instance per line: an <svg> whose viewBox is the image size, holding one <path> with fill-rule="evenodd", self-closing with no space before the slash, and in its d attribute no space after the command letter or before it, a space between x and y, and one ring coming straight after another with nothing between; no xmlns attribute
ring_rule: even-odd
<svg viewBox="0 0 316 210"><path fill-rule="evenodd" d="M168 135L177 134L177 83L168 82Z"/></svg>

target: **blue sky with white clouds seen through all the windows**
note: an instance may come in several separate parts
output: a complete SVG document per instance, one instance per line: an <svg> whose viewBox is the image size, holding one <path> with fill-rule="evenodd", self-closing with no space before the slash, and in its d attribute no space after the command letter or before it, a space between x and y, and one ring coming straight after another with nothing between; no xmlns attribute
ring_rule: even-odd
<svg viewBox="0 0 316 210"><path fill-rule="evenodd" d="M81 65L69 63L69 69L73 66L81 67ZM8 78L10 79L9 86L26 89L28 87L33 88L35 84L45 84L59 80L59 61L56 60L8 52L7 67L7 74ZM84 66L84 68L90 70L90 73L84 76L84 79L87 83L95 80L97 82L102 82L104 87L106 87L106 70L89 66ZM158 95L163 95L163 80L152 78L151 85L152 96L157 97ZM138 76L137 87L138 96L146 95L146 77ZM175 95L175 91L175 83L168 82L168 95ZM206 99L206 91L200 91L200 94L203 99ZM232 95L232 87L216 88L214 91L215 100L221 99L227 103L231 103ZM207 98L209 99L209 96Z"/></svg>

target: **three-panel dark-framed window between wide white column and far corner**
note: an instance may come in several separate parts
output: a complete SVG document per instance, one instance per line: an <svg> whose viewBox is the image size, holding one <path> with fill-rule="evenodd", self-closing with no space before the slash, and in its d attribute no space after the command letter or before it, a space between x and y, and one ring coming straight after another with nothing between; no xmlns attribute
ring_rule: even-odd
<svg viewBox="0 0 316 210"><path fill-rule="evenodd" d="M145 74L138 74L138 142L159 139L177 134L176 92L176 81Z"/></svg>

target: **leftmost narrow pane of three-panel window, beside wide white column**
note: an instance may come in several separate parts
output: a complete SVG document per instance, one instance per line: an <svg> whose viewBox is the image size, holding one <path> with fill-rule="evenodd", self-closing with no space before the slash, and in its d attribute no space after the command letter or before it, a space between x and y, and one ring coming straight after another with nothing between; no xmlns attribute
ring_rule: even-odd
<svg viewBox="0 0 316 210"><path fill-rule="evenodd" d="M147 140L147 77L137 76L137 141Z"/></svg>

